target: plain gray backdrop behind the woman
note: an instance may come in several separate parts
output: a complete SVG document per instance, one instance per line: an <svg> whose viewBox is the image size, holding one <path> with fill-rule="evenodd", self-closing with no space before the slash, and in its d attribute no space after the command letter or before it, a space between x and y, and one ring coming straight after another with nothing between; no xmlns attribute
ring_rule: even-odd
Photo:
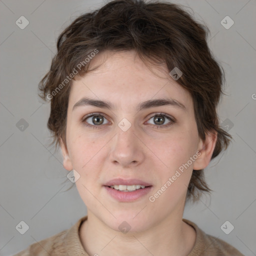
<svg viewBox="0 0 256 256"><path fill-rule="evenodd" d="M185 206L184 218L205 232L256 255L255 174L255 0L177 1L189 6L209 27L209 46L226 72L226 96L219 105L221 122L231 127L233 142L205 169L211 197ZM69 228L86 214L75 187L66 178L60 152L49 146L49 105L37 96L37 84L56 52L57 35L79 14L102 0L0 0L0 255ZM15 21L25 16L20 29ZM230 16L225 29L220 21ZM228 21L229 22L229 21ZM253 99L254 98L254 99ZM21 119L29 124L16 123ZM23 235L15 226L25 221ZM234 229L225 234L228 220Z"/></svg>

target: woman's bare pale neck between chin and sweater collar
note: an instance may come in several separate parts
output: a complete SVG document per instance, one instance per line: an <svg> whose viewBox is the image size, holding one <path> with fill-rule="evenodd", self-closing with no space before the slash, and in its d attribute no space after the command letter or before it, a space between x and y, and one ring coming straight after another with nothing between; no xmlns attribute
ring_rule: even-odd
<svg viewBox="0 0 256 256"><path fill-rule="evenodd" d="M93 213L80 227L80 239L89 255L186 256L195 242L195 230L182 216L167 216L141 232L122 233L109 228Z"/></svg>

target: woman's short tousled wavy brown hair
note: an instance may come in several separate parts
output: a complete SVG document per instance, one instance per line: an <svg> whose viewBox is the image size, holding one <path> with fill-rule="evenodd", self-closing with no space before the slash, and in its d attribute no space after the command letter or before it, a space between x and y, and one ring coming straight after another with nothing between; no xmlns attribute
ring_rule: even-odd
<svg viewBox="0 0 256 256"><path fill-rule="evenodd" d="M153 65L165 63L168 70L178 67L182 71L177 82L193 99L198 134L204 139L206 132L217 133L211 158L217 156L226 149L231 136L219 126L216 106L223 93L224 72L208 48L207 34L206 26L195 21L180 5L169 2L113 0L77 17L59 35L50 70L39 83L40 96L50 98L47 126L55 145L59 145L60 138L65 142L72 80L63 84L64 79L95 49L135 50L141 59ZM76 75L84 75L88 67L89 63ZM196 201L202 191L210 191L203 170L193 170L186 199L192 196Z"/></svg>

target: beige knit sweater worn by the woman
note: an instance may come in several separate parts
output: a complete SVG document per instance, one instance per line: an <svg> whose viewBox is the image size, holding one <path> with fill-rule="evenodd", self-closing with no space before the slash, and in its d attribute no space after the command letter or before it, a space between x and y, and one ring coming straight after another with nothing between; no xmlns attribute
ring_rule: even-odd
<svg viewBox="0 0 256 256"><path fill-rule="evenodd" d="M33 243L14 256L89 256L79 238L79 227L86 219L87 216L80 218L69 229ZM188 256L244 256L225 241L204 233L193 222L187 219L183 219L183 221L191 225L196 231L195 244Z"/></svg>

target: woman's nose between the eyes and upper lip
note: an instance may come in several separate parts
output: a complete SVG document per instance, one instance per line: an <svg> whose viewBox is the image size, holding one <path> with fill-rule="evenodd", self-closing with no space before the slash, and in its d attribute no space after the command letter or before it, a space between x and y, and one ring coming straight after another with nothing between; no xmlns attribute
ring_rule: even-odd
<svg viewBox="0 0 256 256"><path fill-rule="evenodd" d="M143 143L132 125L126 131L117 126L116 135L111 140L110 146L110 161L122 168L135 167L144 159Z"/></svg>

